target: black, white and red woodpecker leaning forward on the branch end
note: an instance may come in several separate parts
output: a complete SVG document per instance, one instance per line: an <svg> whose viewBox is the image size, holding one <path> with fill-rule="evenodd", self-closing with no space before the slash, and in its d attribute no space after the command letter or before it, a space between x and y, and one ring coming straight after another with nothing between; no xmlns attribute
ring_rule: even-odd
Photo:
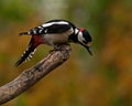
<svg viewBox="0 0 132 106"><path fill-rule="evenodd" d="M66 20L47 21L42 25L31 29L29 32L20 33L20 35L24 34L32 35L32 38L29 47L15 63L15 66L30 60L33 56L36 46L40 44L52 45L56 49L59 44L74 42L82 45L90 54L92 54L89 50L89 46L91 45L91 36L88 31L82 28L79 29Z"/></svg>

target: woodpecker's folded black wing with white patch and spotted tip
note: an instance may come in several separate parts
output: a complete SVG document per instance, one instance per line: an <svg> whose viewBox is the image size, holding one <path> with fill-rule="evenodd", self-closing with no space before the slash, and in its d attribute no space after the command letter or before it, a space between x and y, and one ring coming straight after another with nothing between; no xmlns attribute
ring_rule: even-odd
<svg viewBox="0 0 132 106"><path fill-rule="evenodd" d="M31 29L29 32L22 32L22 34L40 35L46 33L63 33L74 28L73 23L65 20L51 20L42 25Z"/></svg>

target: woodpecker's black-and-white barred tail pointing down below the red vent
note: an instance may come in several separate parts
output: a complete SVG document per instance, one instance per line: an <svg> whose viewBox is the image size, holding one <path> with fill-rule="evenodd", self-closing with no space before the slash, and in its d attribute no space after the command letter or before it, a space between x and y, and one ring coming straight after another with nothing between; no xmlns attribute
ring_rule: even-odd
<svg viewBox="0 0 132 106"><path fill-rule="evenodd" d="M32 45L29 45L29 47L23 52L22 56L19 59L19 61L14 64L15 66L19 66L24 61L30 61L35 52L35 47Z"/></svg>

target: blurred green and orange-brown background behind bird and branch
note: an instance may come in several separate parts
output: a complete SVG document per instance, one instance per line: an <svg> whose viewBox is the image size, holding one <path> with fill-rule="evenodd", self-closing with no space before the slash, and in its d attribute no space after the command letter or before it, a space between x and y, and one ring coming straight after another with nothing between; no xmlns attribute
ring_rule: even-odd
<svg viewBox="0 0 132 106"><path fill-rule="evenodd" d="M88 29L94 56L72 44L66 63L2 106L132 106L132 0L0 0L0 86L48 53L13 66L31 39L19 33L51 19Z"/></svg>

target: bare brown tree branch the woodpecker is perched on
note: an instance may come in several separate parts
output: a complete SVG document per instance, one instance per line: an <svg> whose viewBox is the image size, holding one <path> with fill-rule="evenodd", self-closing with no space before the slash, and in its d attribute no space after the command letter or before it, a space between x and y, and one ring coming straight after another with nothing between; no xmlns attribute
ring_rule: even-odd
<svg viewBox="0 0 132 106"><path fill-rule="evenodd" d="M35 66L23 71L16 78L0 87L0 105L13 99L33 86L51 71L64 63L70 53L69 45L61 45L61 51L53 51Z"/></svg>

